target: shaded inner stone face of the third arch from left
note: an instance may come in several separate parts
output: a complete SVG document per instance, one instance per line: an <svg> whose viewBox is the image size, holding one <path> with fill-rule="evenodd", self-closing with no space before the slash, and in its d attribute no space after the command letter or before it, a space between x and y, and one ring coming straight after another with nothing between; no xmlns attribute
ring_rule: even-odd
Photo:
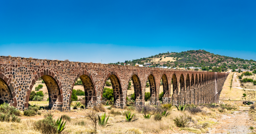
<svg viewBox="0 0 256 134"><path fill-rule="evenodd" d="M85 90L85 107L92 107L93 102L97 101L94 84L91 78L86 74L81 75L79 78L81 79Z"/></svg>

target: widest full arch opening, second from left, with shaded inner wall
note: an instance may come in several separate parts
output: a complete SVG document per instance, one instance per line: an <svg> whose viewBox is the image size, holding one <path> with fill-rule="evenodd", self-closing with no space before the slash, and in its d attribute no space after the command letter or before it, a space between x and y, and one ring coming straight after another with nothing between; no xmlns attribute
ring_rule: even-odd
<svg viewBox="0 0 256 134"><path fill-rule="evenodd" d="M44 102L49 101L49 109L63 110L63 98L61 97L60 87L50 75L43 75L35 82L30 92L29 100L30 105L40 105L41 103L45 105ZM40 103L40 101L43 102ZM25 107L28 108L28 105L25 105Z"/></svg>

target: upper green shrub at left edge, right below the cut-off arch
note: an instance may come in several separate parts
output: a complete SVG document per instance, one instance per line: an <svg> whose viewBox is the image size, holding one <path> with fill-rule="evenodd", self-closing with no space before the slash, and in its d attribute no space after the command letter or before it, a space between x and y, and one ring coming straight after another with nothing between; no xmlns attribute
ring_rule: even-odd
<svg viewBox="0 0 256 134"><path fill-rule="evenodd" d="M3 103L0 105L0 112L4 114L10 114L10 115L14 114L16 116L19 116L21 114L21 111L19 111L13 106L10 106L8 103Z"/></svg>

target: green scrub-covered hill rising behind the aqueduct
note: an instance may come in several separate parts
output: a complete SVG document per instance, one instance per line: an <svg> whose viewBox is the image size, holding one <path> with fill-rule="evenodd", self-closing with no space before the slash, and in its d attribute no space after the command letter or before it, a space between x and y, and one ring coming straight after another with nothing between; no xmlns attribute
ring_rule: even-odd
<svg viewBox="0 0 256 134"><path fill-rule="evenodd" d="M135 65L151 63L150 67L168 66L168 67L202 67L204 71L226 71L227 68L233 69L255 69L255 60L244 60L223 55L215 55L205 50L190 50L185 52L166 52L149 56L148 58L140 58L136 60L126 60L125 62L109 63L109 64L131 64Z"/></svg>

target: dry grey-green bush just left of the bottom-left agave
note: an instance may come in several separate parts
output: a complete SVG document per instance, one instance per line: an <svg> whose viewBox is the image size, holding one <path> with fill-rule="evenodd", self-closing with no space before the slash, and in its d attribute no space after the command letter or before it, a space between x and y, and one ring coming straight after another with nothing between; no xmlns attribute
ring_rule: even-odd
<svg viewBox="0 0 256 134"><path fill-rule="evenodd" d="M43 134L57 133L57 123L51 116L33 122L32 128Z"/></svg>

